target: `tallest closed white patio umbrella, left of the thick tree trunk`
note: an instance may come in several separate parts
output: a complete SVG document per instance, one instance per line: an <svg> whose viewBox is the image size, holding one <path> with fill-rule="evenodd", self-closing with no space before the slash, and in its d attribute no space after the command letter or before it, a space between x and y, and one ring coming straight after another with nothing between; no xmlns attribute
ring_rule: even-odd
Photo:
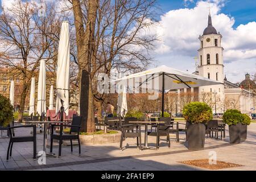
<svg viewBox="0 0 256 182"><path fill-rule="evenodd" d="M57 60L56 113L60 111L62 101L66 115L69 107L69 52L69 25L68 22L63 22Z"/></svg>

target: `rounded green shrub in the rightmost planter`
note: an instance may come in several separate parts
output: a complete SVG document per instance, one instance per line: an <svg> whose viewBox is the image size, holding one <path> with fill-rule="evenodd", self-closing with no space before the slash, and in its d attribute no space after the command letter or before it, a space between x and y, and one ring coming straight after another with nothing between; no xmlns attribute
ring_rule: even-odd
<svg viewBox="0 0 256 182"><path fill-rule="evenodd" d="M228 109L223 114L223 122L227 125L237 125L238 123L242 123L244 116L237 109Z"/></svg>

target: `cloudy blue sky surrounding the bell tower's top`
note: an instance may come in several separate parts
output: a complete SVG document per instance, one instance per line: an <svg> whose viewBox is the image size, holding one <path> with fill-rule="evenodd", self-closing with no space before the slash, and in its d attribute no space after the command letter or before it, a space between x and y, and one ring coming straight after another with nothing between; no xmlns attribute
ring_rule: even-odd
<svg viewBox="0 0 256 182"><path fill-rule="evenodd" d="M7 5L15 0L1 1ZM150 55L156 61L152 67L195 71L198 37L207 27L210 6L213 26L223 36L224 75L236 83L244 80L246 73L255 74L256 0L158 0L158 5L158 22L150 28L159 38Z"/></svg>

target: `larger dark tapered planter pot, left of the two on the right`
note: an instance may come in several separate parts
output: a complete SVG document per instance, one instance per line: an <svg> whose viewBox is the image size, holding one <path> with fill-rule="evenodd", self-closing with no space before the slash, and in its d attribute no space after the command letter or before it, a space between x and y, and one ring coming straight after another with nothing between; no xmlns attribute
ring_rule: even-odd
<svg viewBox="0 0 256 182"><path fill-rule="evenodd" d="M203 150L205 125L203 123L187 123L187 141L189 150Z"/></svg>

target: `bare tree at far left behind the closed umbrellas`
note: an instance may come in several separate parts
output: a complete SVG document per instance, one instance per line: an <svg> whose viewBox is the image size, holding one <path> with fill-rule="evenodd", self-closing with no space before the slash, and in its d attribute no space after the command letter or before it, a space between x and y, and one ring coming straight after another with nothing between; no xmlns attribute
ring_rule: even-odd
<svg viewBox="0 0 256 182"><path fill-rule="evenodd" d="M38 10L36 3L19 0L11 8L2 9L0 16L1 64L9 67L23 82L19 122L22 121L30 81L39 61L51 60L55 55L51 49L54 44L52 32L56 31L54 8L49 7L44 18L38 16Z"/></svg>

